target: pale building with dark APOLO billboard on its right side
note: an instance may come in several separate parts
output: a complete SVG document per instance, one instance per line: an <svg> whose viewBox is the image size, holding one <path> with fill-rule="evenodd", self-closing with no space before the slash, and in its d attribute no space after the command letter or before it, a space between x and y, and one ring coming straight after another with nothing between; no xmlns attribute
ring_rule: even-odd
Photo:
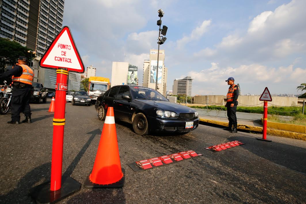
<svg viewBox="0 0 306 204"><path fill-rule="evenodd" d="M138 85L138 67L129 62L113 62L111 87L117 85Z"/></svg>

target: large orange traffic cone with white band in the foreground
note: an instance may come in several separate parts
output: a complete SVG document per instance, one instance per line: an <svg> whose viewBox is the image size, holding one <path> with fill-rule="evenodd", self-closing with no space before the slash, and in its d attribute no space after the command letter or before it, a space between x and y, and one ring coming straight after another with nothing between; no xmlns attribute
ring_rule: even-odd
<svg viewBox="0 0 306 204"><path fill-rule="evenodd" d="M85 187L115 187L124 185L124 169L121 169L114 118L114 109L109 107L103 125L100 143L91 174Z"/></svg>

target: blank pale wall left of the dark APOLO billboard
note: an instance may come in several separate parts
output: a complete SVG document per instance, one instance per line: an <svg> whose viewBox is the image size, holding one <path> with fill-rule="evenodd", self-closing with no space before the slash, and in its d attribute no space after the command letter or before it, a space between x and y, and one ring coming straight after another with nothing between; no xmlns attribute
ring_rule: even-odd
<svg viewBox="0 0 306 204"><path fill-rule="evenodd" d="M111 86L127 84L129 62L113 62Z"/></svg>

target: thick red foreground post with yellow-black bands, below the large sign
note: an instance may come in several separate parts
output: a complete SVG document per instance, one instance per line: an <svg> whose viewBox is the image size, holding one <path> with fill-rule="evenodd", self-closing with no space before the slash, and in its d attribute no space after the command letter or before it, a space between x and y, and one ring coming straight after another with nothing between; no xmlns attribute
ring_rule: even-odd
<svg viewBox="0 0 306 204"><path fill-rule="evenodd" d="M51 162L50 190L56 191L62 185L63 140L65 125L66 91L68 89L68 71L65 68L56 70L55 110L53 119L53 143Z"/></svg>

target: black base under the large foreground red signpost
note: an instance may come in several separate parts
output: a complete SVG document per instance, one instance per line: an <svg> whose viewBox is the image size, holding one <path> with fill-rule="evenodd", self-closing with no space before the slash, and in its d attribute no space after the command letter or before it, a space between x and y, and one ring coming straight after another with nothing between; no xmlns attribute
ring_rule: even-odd
<svg viewBox="0 0 306 204"><path fill-rule="evenodd" d="M35 186L29 190L29 195L36 203L53 203L80 191L81 184L71 177L62 179L62 187L57 191L50 191L51 181Z"/></svg>

